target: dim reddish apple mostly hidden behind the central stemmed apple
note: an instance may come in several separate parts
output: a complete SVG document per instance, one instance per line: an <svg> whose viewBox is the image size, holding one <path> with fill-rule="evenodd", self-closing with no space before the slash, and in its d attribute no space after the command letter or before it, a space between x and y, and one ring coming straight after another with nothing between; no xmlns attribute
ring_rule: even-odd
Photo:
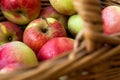
<svg viewBox="0 0 120 80"><path fill-rule="evenodd" d="M47 6L41 9L39 17L52 17L60 21L60 23L67 28L67 16L58 13L52 6Z"/></svg>

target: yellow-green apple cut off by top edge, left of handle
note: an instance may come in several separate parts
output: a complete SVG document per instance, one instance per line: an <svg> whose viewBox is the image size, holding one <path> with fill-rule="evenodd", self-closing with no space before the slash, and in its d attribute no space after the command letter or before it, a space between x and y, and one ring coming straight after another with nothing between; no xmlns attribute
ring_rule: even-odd
<svg viewBox="0 0 120 80"><path fill-rule="evenodd" d="M53 8L63 15L73 15L76 10L73 6L72 0L49 0Z"/></svg>

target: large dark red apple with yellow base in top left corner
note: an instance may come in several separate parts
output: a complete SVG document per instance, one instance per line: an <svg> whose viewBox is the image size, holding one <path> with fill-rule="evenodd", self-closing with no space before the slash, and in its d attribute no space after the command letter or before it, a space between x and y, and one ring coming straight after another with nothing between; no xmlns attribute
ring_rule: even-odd
<svg viewBox="0 0 120 80"><path fill-rule="evenodd" d="M40 0L1 0L1 11L11 22L25 25L36 19L41 10Z"/></svg>

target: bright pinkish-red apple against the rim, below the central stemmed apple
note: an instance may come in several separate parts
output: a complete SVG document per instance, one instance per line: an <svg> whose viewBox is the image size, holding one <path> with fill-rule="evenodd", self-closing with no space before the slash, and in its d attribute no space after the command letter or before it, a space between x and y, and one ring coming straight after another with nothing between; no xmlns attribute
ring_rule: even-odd
<svg viewBox="0 0 120 80"><path fill-rule="evenodd" d="M57 37L47 41L39 50L38 59L48 60L73 49L74 39Z"/></svg>

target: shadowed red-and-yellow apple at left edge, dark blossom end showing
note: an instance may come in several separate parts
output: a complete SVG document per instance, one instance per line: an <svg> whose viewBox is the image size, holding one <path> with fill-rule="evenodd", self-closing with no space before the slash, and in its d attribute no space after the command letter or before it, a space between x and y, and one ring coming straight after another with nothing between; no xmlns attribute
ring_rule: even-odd
<svg viewBox="0 0 120 80"><path fill-rule="evenodd" d="M0 45L11 41L22 41L23 31L9 21L0 22Z"/></svg>

